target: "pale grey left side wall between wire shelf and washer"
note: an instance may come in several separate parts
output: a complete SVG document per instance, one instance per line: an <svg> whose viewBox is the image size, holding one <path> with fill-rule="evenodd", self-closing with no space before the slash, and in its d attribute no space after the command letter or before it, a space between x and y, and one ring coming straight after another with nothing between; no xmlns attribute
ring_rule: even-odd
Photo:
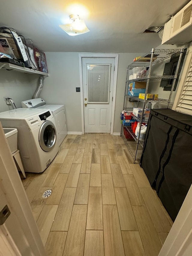
<svg viewBox="0 0 192 256"><path fill-rule="evenodd" d="M21 101L32 98L30 76L32 74L0 70L0 112L13 109L5 103L4 96L12 98L17 108L21 107Z"/></svg>

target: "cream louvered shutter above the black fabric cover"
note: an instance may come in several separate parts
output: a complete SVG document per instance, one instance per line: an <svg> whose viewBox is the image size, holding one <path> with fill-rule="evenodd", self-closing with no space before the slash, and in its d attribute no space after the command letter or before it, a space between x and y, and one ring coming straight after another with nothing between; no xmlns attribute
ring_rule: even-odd
<svg viewBox="0 0 192 256"><path fill-rule="evenodd" d="M192 115L192 56L184 80L183 89L175 110Z"/></svg>

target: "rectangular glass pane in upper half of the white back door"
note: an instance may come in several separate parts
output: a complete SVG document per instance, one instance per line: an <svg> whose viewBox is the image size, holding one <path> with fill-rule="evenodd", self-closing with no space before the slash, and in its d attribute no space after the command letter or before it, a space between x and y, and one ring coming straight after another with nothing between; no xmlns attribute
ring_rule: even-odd
<svg viewBox="0 0 192 256"><path fill-rule="evenodd" d="M109 104L111 65L87 64L88 103Z"/></svg>

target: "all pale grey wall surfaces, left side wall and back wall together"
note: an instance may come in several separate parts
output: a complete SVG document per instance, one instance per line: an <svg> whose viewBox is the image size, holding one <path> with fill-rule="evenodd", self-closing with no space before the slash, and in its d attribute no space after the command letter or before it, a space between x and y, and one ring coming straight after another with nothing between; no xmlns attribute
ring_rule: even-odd
<svg viewBox="0 0 192 256"><path fill-rule="evenodd" d="M170 46L163 47L168 48ZM143 54L119 53L113 130L115 133L121 130L120 112L123 108L127 65L133 62L135 57L141 55ZM81 132L81 101L80 93L76 92L76 87L80 86L79 53L46 53L46 60L50 76L45 77L44 88L42 89L40 97L48 104L64 104L66 109L67 131ZM21 101L33 98L33 94L38 86L39 75L24 74L3 69L0 70L0 74L0 112L9 110L3 96L13 98L16 107L21 107ZM151 93L159 93L159 97L161 97L163 89L160 88L159 85L156 85L155 88L151 90ZM128 102L127 106L136 107L136 105L136 103L133 105ZM10 109L12 108L10 107Z"/></svg>

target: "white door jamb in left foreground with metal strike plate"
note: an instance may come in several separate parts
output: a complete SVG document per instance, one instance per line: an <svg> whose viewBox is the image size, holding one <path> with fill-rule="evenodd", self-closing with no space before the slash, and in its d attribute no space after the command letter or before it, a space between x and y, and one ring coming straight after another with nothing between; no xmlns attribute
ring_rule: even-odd
<svg viewBox="0 0 192 256"><path fill-rule="evenodd" d="M0 122L0 255L45 256L39 230ZM10 215L4 206L8 206ZM1 221L4 215L5 221ZM4 246L2 246L4 244ZM8 252L7 252L8 251Z"/></svg>

